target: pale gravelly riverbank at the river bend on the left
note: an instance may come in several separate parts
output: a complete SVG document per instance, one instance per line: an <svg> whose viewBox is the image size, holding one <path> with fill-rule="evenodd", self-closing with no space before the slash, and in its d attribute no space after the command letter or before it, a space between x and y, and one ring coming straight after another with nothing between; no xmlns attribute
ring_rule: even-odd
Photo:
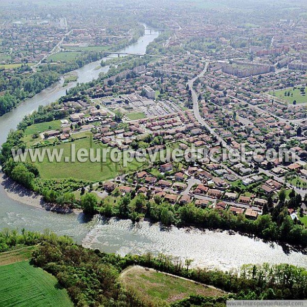
<svg viewBox="0 0 307 307"><path fill-rule="evenodd" d="M78 209L59 207L54 204L46 203L41 195L29 189L26 189L20 184L14 182L12 179L7 177L6 174L1 170L0 170L0 186L4 190L4 193L10 199L19 202L21 204L63 214L82 212L81 210Z"/></svg>

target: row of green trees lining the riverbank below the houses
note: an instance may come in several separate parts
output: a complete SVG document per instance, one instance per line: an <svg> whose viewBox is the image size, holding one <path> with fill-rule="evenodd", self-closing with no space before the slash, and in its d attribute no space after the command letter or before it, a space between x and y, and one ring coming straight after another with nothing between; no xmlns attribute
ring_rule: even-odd
<svg viewBox="0 0 307 307"><path fill-rule="evenodd" d="M282 195L283 193L280 195L281 198ZM192 203L184 206L179 204L171 206L162 202L159 197L152 201L150 200L150 191L147 192L147 195L143 193L136 195L135 191L126 193L121 196L117 204L112 203L112 199L108 198L98 204L96 196L87 193L82 196L81 206L86 213L91 214L100 212L108 217L130 218L134 222L146 216L153 222L159 221L165 226L232 229L266 240L297 245L305 249L307 247L307 229L298 220L292 220L288 214L289 204L297 202L297 198L298 196L295 194L289 202L280 201L276 207L273 206L273 201L269 198L264 214L259 215L256 220L250 220L243 214L234 215L226 210L199 208Z"/></svg>

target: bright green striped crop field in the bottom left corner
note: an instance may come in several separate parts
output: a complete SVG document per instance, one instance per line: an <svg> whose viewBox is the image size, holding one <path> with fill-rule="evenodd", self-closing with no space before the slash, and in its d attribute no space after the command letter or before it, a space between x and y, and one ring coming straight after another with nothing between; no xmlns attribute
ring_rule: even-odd
<svg viewBox="0 0 307 307"><path fill-rule="evenodd" d="M23 261L0 267L0 305L68 307L73 303L54 276Z"/></svg>

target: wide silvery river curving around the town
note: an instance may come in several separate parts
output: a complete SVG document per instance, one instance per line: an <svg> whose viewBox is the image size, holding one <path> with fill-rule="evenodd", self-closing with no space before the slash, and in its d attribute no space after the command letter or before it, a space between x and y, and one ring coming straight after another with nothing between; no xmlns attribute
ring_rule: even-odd
<svg viewBox="0 0 307 307"><path fill-rule="evenodd" d="M157 36L157 32L145 34L137 43L121 51L144 53L148 43ZM78 82L91 81L97 78L100 72L106 72L108 67L97 69L99 64L100 61L93 62L76 70ZM0 117L0 144L5 142L9 130L16 128L25 115L33 112L39 105L47 105L65 95L65 90L75 86L76 82L66 87L62 87L62 84L63 79ZM264 243L262 240L239 234L229 235L228 232L176 227L164 229L159 224L148 222L134 225L128 220L105 220L100 216L86 221L82 213L62 215L16 202L8 198L0 185L0 229L6 227L33 231L48 228L57 234L72 236L77 243L82 243L85 247L99 248L105 252L121 255L163 252L182 259L192 258L195 260L194 266L218 267L223 270L262 262L284 262L307 268L306 255L284 251L275 243Z"/></svg>

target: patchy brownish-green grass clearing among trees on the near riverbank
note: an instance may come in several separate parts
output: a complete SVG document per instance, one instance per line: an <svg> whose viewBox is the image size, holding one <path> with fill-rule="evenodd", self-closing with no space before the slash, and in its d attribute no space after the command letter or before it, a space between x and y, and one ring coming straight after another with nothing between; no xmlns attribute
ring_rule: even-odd
<svg viewBox="0 0 307 307"><path fill-rule="evenodd" d="M192 294L222 296L223 292L189 280L166 275L142 267L130 267L121 274L124 285L135 289L145 301L173 302Z"/></svg>

